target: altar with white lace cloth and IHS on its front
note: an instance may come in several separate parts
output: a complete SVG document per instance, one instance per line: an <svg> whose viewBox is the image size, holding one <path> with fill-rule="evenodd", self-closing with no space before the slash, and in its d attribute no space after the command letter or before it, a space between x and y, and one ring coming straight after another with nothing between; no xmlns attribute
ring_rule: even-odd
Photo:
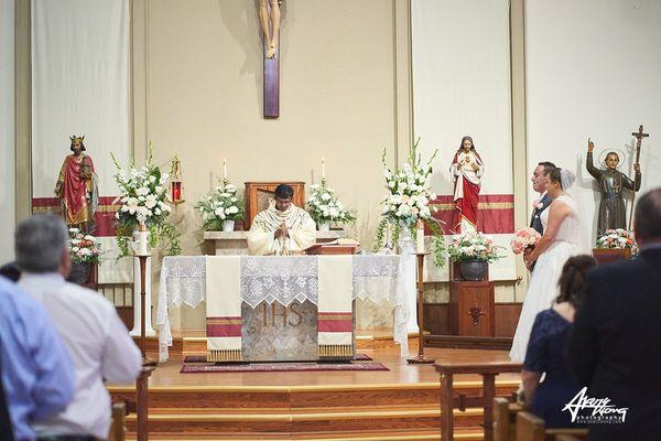
<svg viewBox="0 0 661 441"><path fill-rule="evenodd" d="M387 302L393 338L408 354L407 292L414 279L397 255L180 256L161 269L160 359L172 345L170 309L207 308L207 359L349 359L356 300Z"/></svg>

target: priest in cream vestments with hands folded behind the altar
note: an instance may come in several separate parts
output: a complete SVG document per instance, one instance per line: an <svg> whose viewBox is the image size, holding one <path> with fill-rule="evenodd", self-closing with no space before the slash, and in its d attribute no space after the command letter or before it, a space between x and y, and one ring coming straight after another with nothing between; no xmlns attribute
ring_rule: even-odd
<svg viewBox="0 0 661 441"><path fill-rule="evenodd" d="M316 225L310 214L292 203L294 189L275 187L275 201L254 216L248 232L251 256L295 255L314 245Z"/></svg>

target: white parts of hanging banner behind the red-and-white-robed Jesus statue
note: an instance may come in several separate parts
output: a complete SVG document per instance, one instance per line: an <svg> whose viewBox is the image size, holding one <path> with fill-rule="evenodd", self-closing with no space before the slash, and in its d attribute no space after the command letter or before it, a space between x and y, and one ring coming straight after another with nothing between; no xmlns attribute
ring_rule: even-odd
<svg viewBox="0 0 661 441"><path fill-rule="evenodd" d="M485 162L480 194L511 195L512 141L507 0L413 0L414 136L422 152L438 149L433 190L453 194L449 164L469 135ZM516 278L511 235L494 235L507 257L490 266L492 280ZM447 269L427 265L427 280Z"/></svg>

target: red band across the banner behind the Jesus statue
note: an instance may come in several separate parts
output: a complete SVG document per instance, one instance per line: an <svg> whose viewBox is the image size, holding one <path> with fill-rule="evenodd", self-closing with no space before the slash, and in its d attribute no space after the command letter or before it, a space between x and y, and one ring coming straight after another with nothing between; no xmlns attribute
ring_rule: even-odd
<svg viewBox="0 0 661 441"><path fill-rule="evenodd" d="M455 207L454 195L441 195L431 202L437 212L432 215L445 224L443 229L446 235L455 234L452 229L459 219L459 212ZM514 233L514 195L513 194L480 194L477 206L477 230L486 234ZM425 235L431 232L425 229Z"/></svg>

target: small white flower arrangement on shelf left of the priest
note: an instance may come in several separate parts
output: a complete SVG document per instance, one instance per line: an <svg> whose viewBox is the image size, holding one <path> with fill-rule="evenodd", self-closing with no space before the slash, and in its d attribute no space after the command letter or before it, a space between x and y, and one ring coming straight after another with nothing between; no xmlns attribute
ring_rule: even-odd
<svg viewBox="0 0 661 441"><path fill-rule="evenodd" d="M237 187L227 180L223 180L220 185L195 207L202 213L202 227L206 232L219 232L225 220L243 218L243 198L237 194Z"/></svg>

